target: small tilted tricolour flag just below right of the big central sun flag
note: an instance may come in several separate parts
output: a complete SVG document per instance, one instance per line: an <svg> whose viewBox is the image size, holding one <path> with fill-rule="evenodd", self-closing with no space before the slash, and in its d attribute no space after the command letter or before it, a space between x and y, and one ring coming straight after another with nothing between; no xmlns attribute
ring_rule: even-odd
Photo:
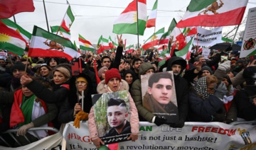
<svg viewBox="0 0 256 150"><path fill-rule="evenodd" d="M144 45L142 46L142 48L144 50L149 49L150 47L154 47L155 45L159 45L159 40L160 37L164 34L164 28L161 28L160 30L158 30L156 33L154 33L153 35L151 35L151 37L148 38L148 40L146 40L144 42Z"/></svg>

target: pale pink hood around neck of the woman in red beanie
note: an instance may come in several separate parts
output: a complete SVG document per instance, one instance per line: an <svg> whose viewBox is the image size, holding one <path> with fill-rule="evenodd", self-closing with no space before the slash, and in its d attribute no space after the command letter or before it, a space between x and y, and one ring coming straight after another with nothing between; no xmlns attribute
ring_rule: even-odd
<svg viewBox="0 0 256 150"><path fill-rule="evenodd" d="M129 91L129 85L127 83L127 81L124 81L122 79L122 81L120 82L120 88L118 91ZM105 80L100 81L100 83L97 85L97 93L108 93L110 92L107 89L107 84L105 83Z"/></svg>

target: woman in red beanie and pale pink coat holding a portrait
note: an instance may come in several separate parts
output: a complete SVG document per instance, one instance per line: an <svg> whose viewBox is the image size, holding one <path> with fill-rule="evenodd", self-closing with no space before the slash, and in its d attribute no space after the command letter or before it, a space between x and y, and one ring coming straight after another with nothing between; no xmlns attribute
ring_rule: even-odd
<svg viewBox="0 0 256 150"><path fill-rule="evenodd" d="M101 81L97 86L97 93L108 93L108 92L115 92L115 91L129 91L129 85L127 81L124 81L121 79L121 76L119 74L119 71L117 69L110 69L105 72L105 80ZM132 134L128 139L132 139L133 142L138 139L138 133L139 133L139 117L138 117L138 111L136 108L136 105L134 103L134 100L132 99L132 96L129 94L129 103L130 103L130 109L131 109L131 132ZM97 147L97 149L100 148L100 144L104 144L102 140L97 137L97 127L95 125L95 117L94 117L94 110L91 108L90 114L89 114L89 132L90 137L92 138L93 144Z"/></svg>

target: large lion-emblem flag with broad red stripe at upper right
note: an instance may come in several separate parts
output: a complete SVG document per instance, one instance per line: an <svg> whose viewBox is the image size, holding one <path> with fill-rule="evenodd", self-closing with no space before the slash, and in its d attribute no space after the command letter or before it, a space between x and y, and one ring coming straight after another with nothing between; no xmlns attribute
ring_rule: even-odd
<svg viewBox="0 0 256 150"><path fill-rule="evenodd" d="M248 0L191 0L178 28L239 25Z"/></svg>

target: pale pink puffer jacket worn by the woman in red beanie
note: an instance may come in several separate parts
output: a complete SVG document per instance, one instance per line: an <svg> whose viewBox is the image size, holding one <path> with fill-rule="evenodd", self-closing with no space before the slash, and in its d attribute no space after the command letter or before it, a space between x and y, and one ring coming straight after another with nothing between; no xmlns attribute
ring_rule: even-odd
<svg viewBox="0 0 256 150"><path fill-rule="evenodd" d="M129 93L129 85L127 81L122 80L120 82L119 91L128 91ZM97 86L97 93L110 93L110 92L111 91L107 89L105 80L102 80ZM129 93L129 104L130 104L130 110L131 110L131 117L130 117L131 132L132 134L139 134L138 111L130 93ZM93 107L91 108L89 113L88 126L89 126L90 137L92 138L92 140L97 139L98 133L97 133L97 127L95 125L95 116L94 116Z"/></svg>

